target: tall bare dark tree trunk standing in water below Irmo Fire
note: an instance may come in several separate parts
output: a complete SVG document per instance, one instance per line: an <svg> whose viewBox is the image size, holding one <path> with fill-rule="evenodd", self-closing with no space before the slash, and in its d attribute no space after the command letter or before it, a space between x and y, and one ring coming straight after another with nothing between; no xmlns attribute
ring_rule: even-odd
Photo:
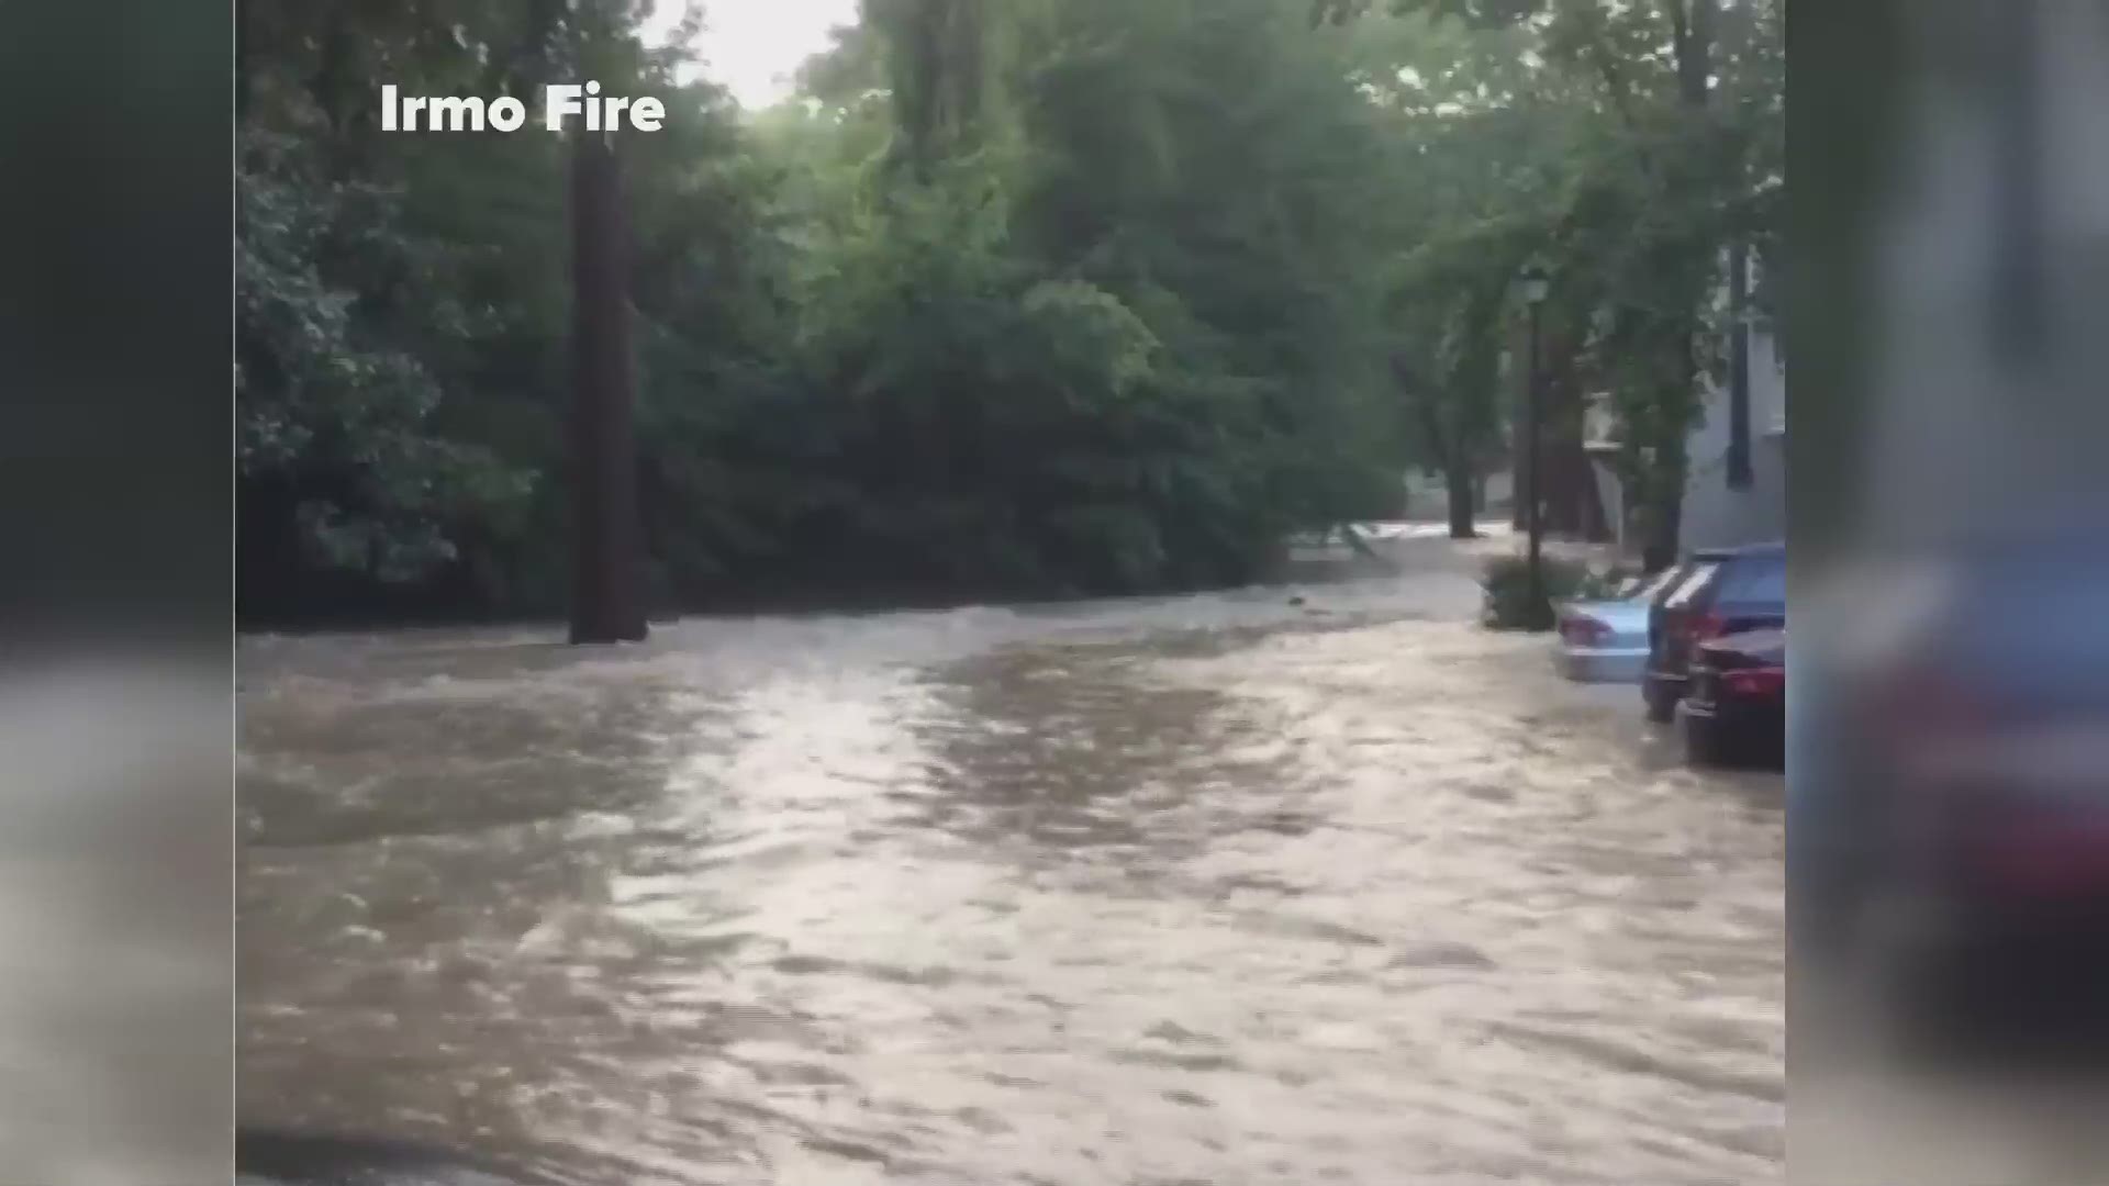
<svg viewBox="0 0 2109 1186"><path fill-rule="evenodd" d="M631 424L622 162L607 133L572 139L572 644L647 633Z"/></svg>

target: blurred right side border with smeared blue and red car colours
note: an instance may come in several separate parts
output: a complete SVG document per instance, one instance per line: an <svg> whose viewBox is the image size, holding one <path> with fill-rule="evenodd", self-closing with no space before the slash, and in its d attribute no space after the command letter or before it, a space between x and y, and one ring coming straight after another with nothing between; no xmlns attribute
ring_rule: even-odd
<svg viewBox="0 0 2109 1186"><path fill-rule="evenodd" d="M2103 1182L2109 6L1795 4L1788 173L1791 1178Z"/></svg>

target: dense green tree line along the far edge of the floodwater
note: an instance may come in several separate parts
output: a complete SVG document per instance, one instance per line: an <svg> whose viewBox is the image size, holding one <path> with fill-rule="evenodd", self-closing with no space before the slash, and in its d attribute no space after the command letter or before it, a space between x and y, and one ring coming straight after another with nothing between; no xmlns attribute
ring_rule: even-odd
<svg viewBox="0 0 2109 1186"><path fill-rule="evenodd" d="M616 150L643 544L681 608L1246 580L1293 530L1396 511L1409 460L1497 452L1525 257L1590 310L1561 365L1613 374L1708 340L1715 249L1763 222L1681 198L1706 217L1634 243L1632 209L1696 192L1672 167L1727 192L1708 154L1748 169L1763 122L1643 108L1639 27L1599 38L1613 91L1567 25L1497 13L867 0L740 112L643 8L243 6L249 620L567 597L565 139L380 133L384 80L666 101ZM1662 293L1683 321L1641 314ZM1689 401L1613 378L1637 424Z"/></svg>

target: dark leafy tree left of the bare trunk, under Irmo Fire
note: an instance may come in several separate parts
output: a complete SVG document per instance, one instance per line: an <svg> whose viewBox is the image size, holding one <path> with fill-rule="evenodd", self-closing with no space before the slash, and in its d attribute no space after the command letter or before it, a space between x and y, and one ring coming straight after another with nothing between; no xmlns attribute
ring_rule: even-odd
<svg viewBox="0 0 2109 1186"><path fill-rule="evenodd" d="M240 125L249 150L240 245L255 264L243 279L255 317L245 319L238 340L245 431L283 443L245 466L247 601L297 612L327 585L333 599L399 610L557 612L572 582L563 551L544 540L563 540L576 521L563 498L574 424L565 382L574 169L555 137L378 135L371 80L531 99L542 80L591 72L616 93L669 95L677 55L643 49L639 4L390 0L308 8L297 0L243 11ZM588 25L601 44L591 68L582 65ZM694 89L683 97L698 99ZM650 137L639 154L656 249L675 222L658 196L698 190L679 181L700 160L730 152L711 131L728 122L704 101L685 103L669 135ZM673 144L688 156L669 169L658 150ZM280 249L289 241L274 211L287 209L310 213L295 228L297 245ZM635 260L622 289L656 283L643 304L662 312L679 287L669 272L685 270L692 243ZM415 449L382 447L386 437L371 418L346 420L359 397L308 397L312 386L295 386L274 365L329 338L295 338L299 321L272 312L266 302L293 291L272 281L283 274L272 262L312 272L312 283L333 293L350 344L325 346L325 359L378 350L390 365L361 374L392 374L403 380L390 380L394 388L422 390L415 426L403 433ZM723 338L700 333L713 336ZM409 407L403 399L394 405ZM280 409L344 426L280 431ZM401 456L430 464L384 464Z"/></svg>

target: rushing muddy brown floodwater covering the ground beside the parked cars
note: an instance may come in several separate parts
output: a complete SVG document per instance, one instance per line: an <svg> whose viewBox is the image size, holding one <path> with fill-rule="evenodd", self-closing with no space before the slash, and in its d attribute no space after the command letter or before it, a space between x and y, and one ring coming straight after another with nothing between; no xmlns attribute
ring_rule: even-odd
<svg viewBox="0 0 2109 1186"><path fill-rule="evenodd" d="M1407 555L253 639L243 1121L565 1184L1778 1180L1780 779Z"/></svg>

